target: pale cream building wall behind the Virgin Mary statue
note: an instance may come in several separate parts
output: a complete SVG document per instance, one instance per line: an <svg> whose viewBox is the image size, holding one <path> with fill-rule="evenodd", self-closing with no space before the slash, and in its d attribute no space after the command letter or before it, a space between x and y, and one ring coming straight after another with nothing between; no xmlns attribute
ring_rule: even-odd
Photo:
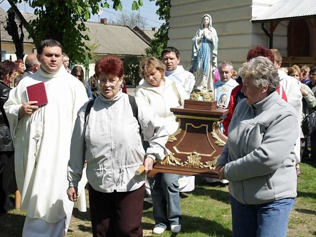
<svg viewBox="0 0 316 237"><path fill-rule="evenodd" d="M231 61L238 68L247 52L256 45L269 47L269 38L261 23L251 19L261 14L278 0L171 0L168 46L179 49L181 64L191 67L192 38L204 14L210 14L217 31L218 64ZM281 22L274 32L274 47L287 56L287 25ZM269 24L265 24L269 31Z"/></svg>

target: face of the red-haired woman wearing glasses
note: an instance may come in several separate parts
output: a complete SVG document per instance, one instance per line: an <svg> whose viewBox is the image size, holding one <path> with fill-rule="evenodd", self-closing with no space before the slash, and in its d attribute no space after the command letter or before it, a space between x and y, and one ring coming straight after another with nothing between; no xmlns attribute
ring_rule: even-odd
<svg viewBox="0 0 316 237"><path fill-rule="evenodd" d="M118 94L119 86L123 82L123 77L118 78L111 74L100 74L98 79L101 94L107 99L112 99Z"/></svg>

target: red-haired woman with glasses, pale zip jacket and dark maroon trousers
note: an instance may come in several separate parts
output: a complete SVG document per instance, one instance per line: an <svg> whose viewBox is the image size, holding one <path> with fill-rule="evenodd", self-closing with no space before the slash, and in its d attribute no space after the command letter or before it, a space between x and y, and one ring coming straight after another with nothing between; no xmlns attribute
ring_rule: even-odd
<svg viewBox="0 0 316 237"><path fill-rule="evenodd" d="M120 59L100 59L95 73L101 95L88 115L87 104L78 112L68 164L68 197L77 200L86 160L93 236L141 237L145 174L135 175L135 171L144 163L148 172L155 159L164 158L168 134L146 102L122 93ZM146 151L140 127L150 144Z"/></svg>

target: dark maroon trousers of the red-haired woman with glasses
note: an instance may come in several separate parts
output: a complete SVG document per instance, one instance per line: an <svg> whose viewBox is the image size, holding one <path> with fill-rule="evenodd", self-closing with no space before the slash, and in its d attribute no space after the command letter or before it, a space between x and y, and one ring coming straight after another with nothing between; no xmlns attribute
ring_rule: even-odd
<svg viewBox="0 0 316 237"><path fill-rule="evenodd" d="M89 184L93 237L142 237L145 186L130 192L101 193Z"/></svg>

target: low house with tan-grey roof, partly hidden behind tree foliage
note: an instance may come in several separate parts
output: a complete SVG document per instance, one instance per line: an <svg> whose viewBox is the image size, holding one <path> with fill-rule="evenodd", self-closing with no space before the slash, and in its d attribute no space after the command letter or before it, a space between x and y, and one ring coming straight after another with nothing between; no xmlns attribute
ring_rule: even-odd
<svg viewBox="0 0 316 237"><path fill-rule="evenodd" d="M34 14L23 13L23 17L28 21L36 17ZM7 13L0 8L0 34L1 34L1 55L2 60L9 59L16 60L15 46L12 37L8 35L3 28L6 25ZM16 17L16 22L19 19ZM3 23L3 24L2 24ZM128 26L108 25L106 18L101 19L100 23L86 22L85 25L89 29L87 34L91 40L86 42L92 48L94 55L93 59L89 62L89 75L94 74L95 60L106 55L113 55L123 59L126 56L136 56L141 59L146 55L145 48L149 47L149 42L144 39L140 34L130 29ZM24 54L25 57L33 53L35 45L32 39L28 39L28 32L23 28L24 32ZM146 35L154 35L154 33L147 33ZM78 64L79 65L79 64ZM81 65L83 66L83 65Z"/></svg>

